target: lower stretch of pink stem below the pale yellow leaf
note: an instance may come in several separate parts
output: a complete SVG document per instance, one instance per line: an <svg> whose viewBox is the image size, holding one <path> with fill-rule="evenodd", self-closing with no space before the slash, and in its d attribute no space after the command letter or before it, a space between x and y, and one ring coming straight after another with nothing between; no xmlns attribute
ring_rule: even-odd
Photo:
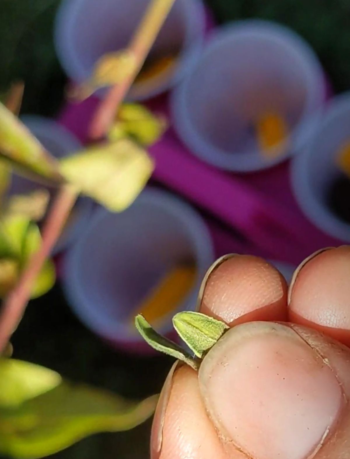
<svg viewBox="0 0 350 459"><path fill-rule="evenodd" d="M51 212L44 224L42 244L38 252L30 259L14 289L6 297L0 313L0 352L6 347L13 331L17 328L27 305L33 283L45 260L50 257L59 238L67 217L78 197L78 190L73 185L64 185L58 191Z"/></svg>

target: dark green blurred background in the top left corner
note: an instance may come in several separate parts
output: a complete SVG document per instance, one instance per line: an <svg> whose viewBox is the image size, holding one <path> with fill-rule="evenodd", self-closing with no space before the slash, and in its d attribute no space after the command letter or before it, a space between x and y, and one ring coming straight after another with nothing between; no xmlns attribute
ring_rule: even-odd
<svg viewBox="0 0 350 459"><path fill-rule="evenodd" d="M23 113L55 115L66 78L56 58L52 29L59 0L0 0L0 92L26 83Z"/></svg>

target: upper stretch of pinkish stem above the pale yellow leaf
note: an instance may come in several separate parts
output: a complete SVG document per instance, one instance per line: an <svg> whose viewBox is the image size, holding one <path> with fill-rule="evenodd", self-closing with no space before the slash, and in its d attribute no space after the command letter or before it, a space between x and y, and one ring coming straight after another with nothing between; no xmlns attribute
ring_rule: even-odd
<svg viewBox="0 0 350 459"><path fill-rule="evenodd" d="M101 102L90 125L89 137L92 140L100 139L110 128L118 106L139 73L173 3L174 0L152 0L148 6L128 46L136 58L137 65L125 81L111 87L106 99Z"/></svg>

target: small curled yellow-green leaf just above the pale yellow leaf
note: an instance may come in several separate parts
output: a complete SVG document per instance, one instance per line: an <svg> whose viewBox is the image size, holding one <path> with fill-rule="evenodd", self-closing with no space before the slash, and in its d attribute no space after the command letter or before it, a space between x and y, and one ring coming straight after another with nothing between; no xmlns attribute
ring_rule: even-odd
<svg viewBox="0 0 350 459"><path fill-rule="evenodd" d="M120 107L108 138L118 140L122 136L131 136L141 145L149 146L161 137L166 127L164 118L153 115L143 105L126 103Z"/></svg>

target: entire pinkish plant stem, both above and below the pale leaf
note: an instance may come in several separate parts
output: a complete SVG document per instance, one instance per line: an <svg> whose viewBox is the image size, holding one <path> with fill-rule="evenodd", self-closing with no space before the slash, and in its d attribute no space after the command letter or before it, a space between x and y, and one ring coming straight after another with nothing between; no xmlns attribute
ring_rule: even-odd
<svg viewBox="0 0 350 459"><path fill-rule="evenodd" d="M137 69L124 82L113 87L106 100L101 103L91 126L91 136L94 139L106 134L118 106L127 94L135 76L144 63L144 59L156 39L173 2L174 0L152 0L129 45L129 49L137 57ZM45 260L50 256L77 197L78 190L73 185L63 185L58 191L56 200L44 224L42 244L39 251L29 260L17 285L2 304L0 310L0 354L22 319L30 298L33 283L40 269L43 267Z"/></svg>

